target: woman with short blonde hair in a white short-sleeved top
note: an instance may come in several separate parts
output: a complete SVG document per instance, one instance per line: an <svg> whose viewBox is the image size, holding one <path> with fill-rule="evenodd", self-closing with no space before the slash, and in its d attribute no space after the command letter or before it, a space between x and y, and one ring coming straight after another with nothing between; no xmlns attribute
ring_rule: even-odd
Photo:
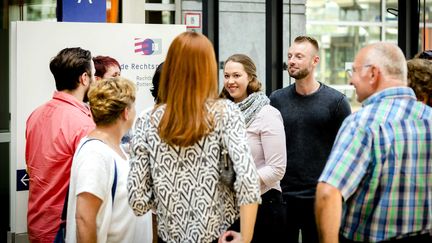
<svg viewBox="0 0 432 243"><path fill-rule="evenodd" d="M73 158L66 242L143 242L144 226L128 205L129 161L120 146L135 119L135 93L135 84L121 77L90 87L96 128L81 139Z"/></svg>

